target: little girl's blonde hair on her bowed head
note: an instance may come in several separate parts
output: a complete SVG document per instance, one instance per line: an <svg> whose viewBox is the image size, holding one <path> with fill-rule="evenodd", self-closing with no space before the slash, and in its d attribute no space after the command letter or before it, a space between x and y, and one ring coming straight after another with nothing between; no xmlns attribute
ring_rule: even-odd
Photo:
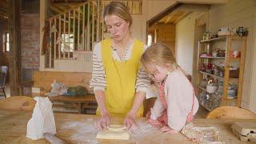
<svg viewBox="0 0 256 144"><path fill-rule="evenodd" d="M142 54L141 62L147 72L149 72L147 69L149 64L178 67L173 51L163 43L156 43L148 47L145 53Z"/></svg>

